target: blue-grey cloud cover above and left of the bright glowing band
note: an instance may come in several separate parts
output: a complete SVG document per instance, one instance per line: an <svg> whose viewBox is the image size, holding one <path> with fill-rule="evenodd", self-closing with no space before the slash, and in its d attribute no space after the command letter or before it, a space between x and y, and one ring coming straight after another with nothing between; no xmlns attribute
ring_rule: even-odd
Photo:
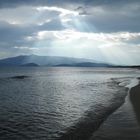
<svg viewBox="0 0 140 140"><path fill-rule="evenodd" d="M79 15L61 17L61 9L38 11L38 6L64 8ZM138 33L139 11L140 0L0 0L0 51L15 54L21 46L22 52L27 53L26 48L34 47L40 31ZM48 37L43 42L49 44L53 38ZM138 45L139 36L125 43Z"/></svg>

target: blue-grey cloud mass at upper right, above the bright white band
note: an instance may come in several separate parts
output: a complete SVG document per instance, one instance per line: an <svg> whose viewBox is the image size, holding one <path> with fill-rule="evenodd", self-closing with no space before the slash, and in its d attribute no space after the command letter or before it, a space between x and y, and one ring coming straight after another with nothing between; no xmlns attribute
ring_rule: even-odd
<svg viewBox="0 0 140 140"><path fill-rule="evenodd" d="M113 9L114 7L114 9ZM119 10L118 10L119 9ZM114 5L83 6L78 7L83 16L70 24L79 31L85 32L140 32L140 4L126 3L115 7ZM83 26L79 28L77 21ZM85 26L89 27L89 29Z"/></svg>

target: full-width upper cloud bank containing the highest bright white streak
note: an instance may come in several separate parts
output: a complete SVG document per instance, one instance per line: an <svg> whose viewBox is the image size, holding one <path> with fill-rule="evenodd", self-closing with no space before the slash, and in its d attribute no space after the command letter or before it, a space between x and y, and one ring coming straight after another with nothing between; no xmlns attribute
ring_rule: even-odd
<svg viewBox="0 0 140 140"><path fill-rule="evenodd" d="M13 24L41 25L57 20L55 26L65 22L67 28L82 32L140 32L139 0L2 0L0 3L0 19ZM11 8L13 5L15 8Z"/></svg>

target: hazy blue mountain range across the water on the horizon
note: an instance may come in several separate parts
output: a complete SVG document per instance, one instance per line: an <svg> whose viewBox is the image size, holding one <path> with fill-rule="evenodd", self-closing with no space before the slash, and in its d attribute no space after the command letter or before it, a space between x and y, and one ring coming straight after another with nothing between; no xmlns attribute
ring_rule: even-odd
<svg viewBox="0 0 140 140"><path fill-rule="evenodd" d="M0 60L0 66L109 66L109 64L94 61L92 59L20 55Z"/></svg>

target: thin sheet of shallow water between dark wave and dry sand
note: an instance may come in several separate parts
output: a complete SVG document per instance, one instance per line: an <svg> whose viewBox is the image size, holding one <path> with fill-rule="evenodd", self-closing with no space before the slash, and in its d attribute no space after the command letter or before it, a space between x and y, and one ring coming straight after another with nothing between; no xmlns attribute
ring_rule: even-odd
<svg viewBox="0 0 140 140"><path fill-rule="evenodd" d="M140 140L140 126L129 95L125 103L108 117L90 140Z"/></svg>

